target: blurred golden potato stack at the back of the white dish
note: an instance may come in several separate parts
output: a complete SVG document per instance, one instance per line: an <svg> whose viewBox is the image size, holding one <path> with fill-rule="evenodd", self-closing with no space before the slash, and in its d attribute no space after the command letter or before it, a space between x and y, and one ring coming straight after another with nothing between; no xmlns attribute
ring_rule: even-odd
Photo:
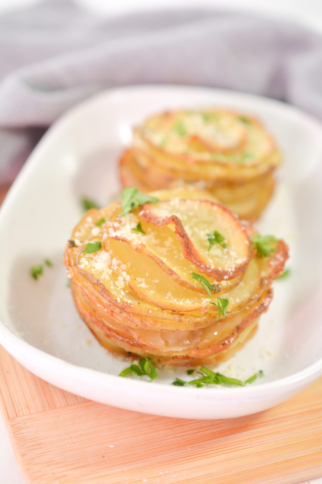
<svg viewBox="0 0 322 484"><path fill-rule="evenodd" d="M120 160L123 186L147 192L205 188L240 219L255 221L274 189L280 151L259 121L227 110L182 110L134 129Z"/></svg>

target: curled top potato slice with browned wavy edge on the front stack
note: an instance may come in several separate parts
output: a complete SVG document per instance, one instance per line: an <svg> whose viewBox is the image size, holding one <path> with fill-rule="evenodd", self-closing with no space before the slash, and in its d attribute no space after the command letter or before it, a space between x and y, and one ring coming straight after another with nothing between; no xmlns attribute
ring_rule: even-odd
<svg viewBox="0 0 322 484"><path fill-rule="evenodd" d="M201 272L217 281L242 274L250 259L248 230L222 205L210 200L172 199L145 204L140 217L158 227L170 226L182 245L182 253ZM217 230L226 247L210 250L207 234Z"/></svg>

